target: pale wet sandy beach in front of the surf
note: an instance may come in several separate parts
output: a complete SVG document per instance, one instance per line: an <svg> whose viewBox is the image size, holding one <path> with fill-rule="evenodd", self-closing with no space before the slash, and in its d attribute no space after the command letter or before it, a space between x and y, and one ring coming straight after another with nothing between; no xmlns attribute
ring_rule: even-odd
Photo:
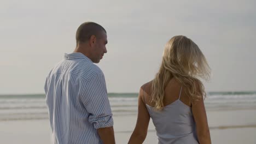
<svg viewBox="0 0 256 144"><path fill-rule="evenodd" d="M136 113L114 115L116 143L127 143L137 118ZM212 143L256 143L256 109L209 110ZM0 143L50 143L48 119L0 121ZM157 143L152 121L144 143Z"/></svg>

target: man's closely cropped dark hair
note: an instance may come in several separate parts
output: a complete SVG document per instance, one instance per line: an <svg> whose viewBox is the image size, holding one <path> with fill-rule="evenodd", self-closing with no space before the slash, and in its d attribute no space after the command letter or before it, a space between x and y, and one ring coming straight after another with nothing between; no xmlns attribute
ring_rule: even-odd
<svg viewBox="0 0 256 144"><path fill-rule="evenodd" d="M101 37L101 33L106 32L106 30L95 22L84 22L77 29L75 34L75 39L77 40L77 45L79 43L85 43L90 40L91 35L95 35L96 38Z"/></svg>

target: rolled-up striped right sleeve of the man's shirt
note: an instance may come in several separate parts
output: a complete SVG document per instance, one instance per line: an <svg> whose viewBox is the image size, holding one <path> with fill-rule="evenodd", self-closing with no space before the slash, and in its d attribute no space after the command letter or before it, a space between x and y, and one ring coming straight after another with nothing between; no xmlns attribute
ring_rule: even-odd
<svg viewBox="0 0 256 144"><path fill-rule="evenodd" d="M88 121L95 129L113 126L112 112L107 96L103 73L98 73L85 83L81 95L82 103L89 112Z"/></svg>

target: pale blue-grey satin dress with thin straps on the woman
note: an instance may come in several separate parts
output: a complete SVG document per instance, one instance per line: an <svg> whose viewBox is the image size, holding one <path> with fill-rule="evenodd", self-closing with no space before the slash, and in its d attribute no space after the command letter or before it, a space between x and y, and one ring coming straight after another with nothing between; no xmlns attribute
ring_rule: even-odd
<svg viewBox="0 0 256 144"><path fill-rule="evenodd" d="M179 93L179 99L181 98L181 92ZM199 143L191 107L185 105L179 99L164 106L161 111L155 111L154 107L146 104L155 125L159 144Z"/></svg>

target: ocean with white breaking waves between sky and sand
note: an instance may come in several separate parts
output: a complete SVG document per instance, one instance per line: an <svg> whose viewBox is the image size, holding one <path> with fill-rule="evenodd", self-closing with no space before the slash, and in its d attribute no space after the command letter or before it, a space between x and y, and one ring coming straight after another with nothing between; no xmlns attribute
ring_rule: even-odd
<svg viewBox="0 0 256 144"><path fill-rule="evenodd" d="M114 116L137 115L138 93L108 93ZM208 92L206 111L256 108L256 92ZM47 119L44 94L0 95L0 121Z"/></svg>

